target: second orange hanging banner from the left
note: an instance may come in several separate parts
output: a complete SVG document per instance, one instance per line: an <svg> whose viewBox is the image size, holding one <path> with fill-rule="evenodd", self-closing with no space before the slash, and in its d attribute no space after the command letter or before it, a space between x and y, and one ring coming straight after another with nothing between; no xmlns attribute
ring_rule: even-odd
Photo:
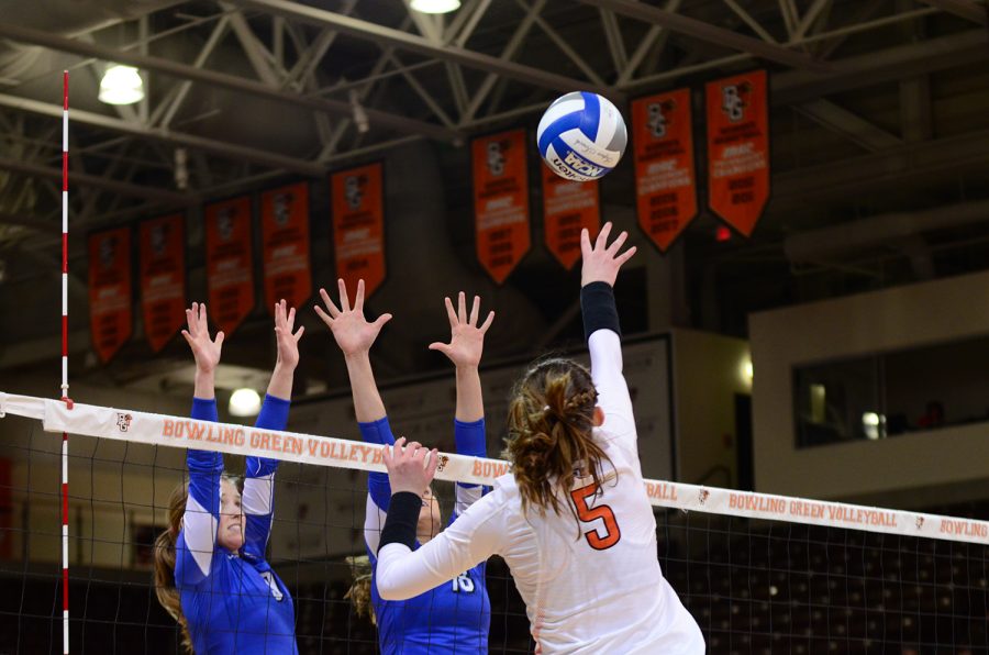
<svg viewBox="0 0 989 655"><path fill-rule="evenodd" d="M154 352L186 322L186 235L181 214L141 223L141 310Z"/></svg>

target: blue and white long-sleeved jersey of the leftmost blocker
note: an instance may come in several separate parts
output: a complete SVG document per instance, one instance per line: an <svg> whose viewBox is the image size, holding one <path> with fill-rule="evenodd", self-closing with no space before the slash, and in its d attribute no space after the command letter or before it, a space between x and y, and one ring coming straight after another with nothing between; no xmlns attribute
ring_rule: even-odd
<svg viewBox="0 0 989 655"><path fill-rule="evenodd" d="M290 402L265 397L256 425L285 430ZM216 421L216 401L193 399L192 418ZM265 559L274 518L277 459L248 457L241 502L244 545L236 553L216 544L220 520L220 453L189 449L189 498L176 543L175 584L197 655L296 654L292 597Z"/></svg>

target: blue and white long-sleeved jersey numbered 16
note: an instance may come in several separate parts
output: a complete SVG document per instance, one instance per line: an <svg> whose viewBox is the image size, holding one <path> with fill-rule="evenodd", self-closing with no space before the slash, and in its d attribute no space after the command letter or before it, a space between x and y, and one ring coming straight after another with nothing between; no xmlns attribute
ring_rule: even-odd
<svg viewBox="0 0 989 655"><path fill-rule="evenodd" d="M395 436L388 418L360 423L364 441L392 444ZM484 419L454 421L457 453L484 457ZM491 603L485 580L486 563L464 571L415 598L402 601L382 600L376 579L378 541L385 514L391 502L388 475L368 474L367 517L364 536L371 564L371 603L378 622L378 643L382 655L421 655L426 653L487 653ZM449 523L486 491L480 485L456 482L456 502ZM419 547L419 544L415 544Z"/></svg>

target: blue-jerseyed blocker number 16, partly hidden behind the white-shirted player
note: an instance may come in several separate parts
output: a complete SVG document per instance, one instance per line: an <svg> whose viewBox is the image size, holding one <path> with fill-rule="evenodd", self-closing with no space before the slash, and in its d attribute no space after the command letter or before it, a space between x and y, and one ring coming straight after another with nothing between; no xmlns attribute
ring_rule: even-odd
<svg viewBox="0 0 989 655"><path fill-rule="evenodd" d="M344 353L362 436L369 443L393 444L395 436L385 413L385 404L378 393L369 358L370 347L381 328L391 319L391 314L382 314L376 321L368 322L364 318L364 280L357 284L353 308L349 306L343 280L340 280L338 286L340 308L333 303L329 293L321 289L320 295L326 304L326 311L316 307L316 312L333 332L336 344ZM446 299L451 341L448 344L431 344L430 348L442 352L456 366L457 408L454 437L457 453L484 457L487 448L477 367L484 349L485 333L491 325L494 312L490 312L485 322L478 326L480 299L475 297L469 317L463 292L459 295L458 306L458 311L455 311L449 298ZM388 475L384 473L369 474L367 486L364 537L374 577L381 526L391 501L391 487ZM457 517L484 493L484 488L479 485L457 482L455 487L456 502L449 523L456 521ZM416 530L416 547L427 543L441 530L440 502L432 489L424 489ZM370 598L378 625L378 641L385 655L487 653L491 606L485 584L485 568L486 565L481 562L408 600L384 600L378 595L374 580L370 580L369 593L356 592L351 597Z"/></svg>

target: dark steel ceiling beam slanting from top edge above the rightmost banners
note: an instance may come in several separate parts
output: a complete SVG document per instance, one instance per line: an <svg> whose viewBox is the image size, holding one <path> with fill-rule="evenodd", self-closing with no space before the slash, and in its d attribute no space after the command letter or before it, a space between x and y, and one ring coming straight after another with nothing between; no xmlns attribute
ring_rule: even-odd
<svg viewBox="0 0 989 655"><path fill-rule="evenodd" d="M679 32L687 36L713 43L722 47L729 47L743 53L748 53L770 62L778 62L792 68L824 73L831 70L826 62L815 59L802 53L796 53L784 46L766 43L759 38L753 38L738 32L732 32L711 23L686 16L658 7L649 7L645 3L631 2L630 0L580 0L584 4L590 4L599 9L608 9L632 19L636 19L654 25L663 25L667 30Z"/></svg>

